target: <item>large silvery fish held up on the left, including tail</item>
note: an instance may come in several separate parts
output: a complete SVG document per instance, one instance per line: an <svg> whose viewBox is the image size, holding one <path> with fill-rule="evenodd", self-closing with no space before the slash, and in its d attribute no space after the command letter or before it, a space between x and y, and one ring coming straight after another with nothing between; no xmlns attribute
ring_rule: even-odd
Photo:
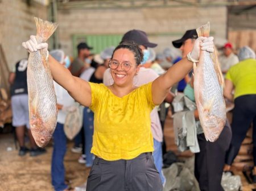
<svg viewBox="0 0 256 191"><path fill-rule="evenodd" d="M34 18L36 41L44 43L57 28L57 23ZM28 104L30 128L39 147L47 145L57 122L57 101L51 71L48 64L48 51L31 52L27 66Z"/></svg>

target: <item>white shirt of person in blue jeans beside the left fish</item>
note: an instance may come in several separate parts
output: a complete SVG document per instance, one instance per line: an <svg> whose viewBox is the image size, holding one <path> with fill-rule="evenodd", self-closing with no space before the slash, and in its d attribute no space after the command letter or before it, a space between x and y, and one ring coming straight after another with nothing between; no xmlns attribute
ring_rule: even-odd
<svg viewBox="0 0 256 191"><path fill-rule="evenodd" d="M75 105L75 100L68 94L67 90L62 88L59 84L53 81L55 94L57 98L57 103L63 106L73 106ZM58 111L57 122L64 124L67 116L67 112L63 110Z"/></svg>

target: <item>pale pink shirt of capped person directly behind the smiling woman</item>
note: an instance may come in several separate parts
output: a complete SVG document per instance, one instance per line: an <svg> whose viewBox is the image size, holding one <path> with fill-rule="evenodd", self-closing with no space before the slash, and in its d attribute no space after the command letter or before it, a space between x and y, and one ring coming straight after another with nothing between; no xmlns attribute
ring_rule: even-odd
<svg viewBox="0 0 256 191"><path fill-rule="evenodd" d="M103 83L106 86L112 85L114 83L114 80L109 70L110 69L107 69L105 71L103 78ZM151 81L154 81L156 78L158 78L158 74L156 74L154 70L152 70L151 68L141 67L141 69L139 69L138 75L134 77L134 85L142 86ZM151 111L150 118L153 138L158 142L163 142L163 131L156 107Z"/></svg>

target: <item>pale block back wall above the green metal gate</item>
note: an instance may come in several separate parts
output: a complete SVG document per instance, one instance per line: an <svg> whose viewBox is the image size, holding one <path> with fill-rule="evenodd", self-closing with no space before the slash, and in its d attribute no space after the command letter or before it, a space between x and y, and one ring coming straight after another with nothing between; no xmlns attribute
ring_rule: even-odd
<svg viewBox="0 0 256 191"><path fill-rule="evenodd" d="M59 10L57 32L61 48L69 55L72 55L72 35L122 35L134 28L147 32L150 40L159 44L155 50L162 51L172 40L181 38L185 30L208 21L212 34L216 38L225 38L226 14L225 6Z"/></svg>

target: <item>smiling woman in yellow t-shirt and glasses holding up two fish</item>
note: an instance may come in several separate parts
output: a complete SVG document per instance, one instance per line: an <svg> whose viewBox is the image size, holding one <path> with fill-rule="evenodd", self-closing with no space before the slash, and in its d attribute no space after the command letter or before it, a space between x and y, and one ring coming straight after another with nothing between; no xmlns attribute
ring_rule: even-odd
<svg viewBox="0 0 256 191"><path fill-rule="evenodd" d="M22 43L30 52L47 49L36 36ZM145 45L150 46L149 43ZM152 45L152 44L151 44ZM156 44L153 44L154 46ZM93 147L96 156L86 185L86 191L160 191L162 181L152 151L151 110L170 92L199 59L200 49L213 52L213 38L200 37L188 54L154 81L134 85L142 59L141 48L131 41L119 44L109 62L113 85L95 84L72 76L51 55L48 57L53 80L63 86L81 105L94 112Z"/></svg>

